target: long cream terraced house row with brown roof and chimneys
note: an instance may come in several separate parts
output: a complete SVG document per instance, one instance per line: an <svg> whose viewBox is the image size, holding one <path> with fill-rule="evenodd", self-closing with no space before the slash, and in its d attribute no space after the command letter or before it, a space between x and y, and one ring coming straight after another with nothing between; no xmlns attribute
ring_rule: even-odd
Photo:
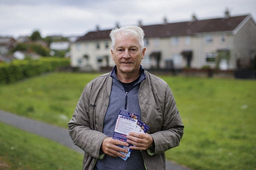
<svg viewBox="0 0 256 170"><path fill-rule="evenodd" d="M146 55L144 68L247 68L256 60L256 22L250 14L221 18L142 25ZM100 70L114 66L111 29L90 31L70 46L71 66Z"/></svg>

